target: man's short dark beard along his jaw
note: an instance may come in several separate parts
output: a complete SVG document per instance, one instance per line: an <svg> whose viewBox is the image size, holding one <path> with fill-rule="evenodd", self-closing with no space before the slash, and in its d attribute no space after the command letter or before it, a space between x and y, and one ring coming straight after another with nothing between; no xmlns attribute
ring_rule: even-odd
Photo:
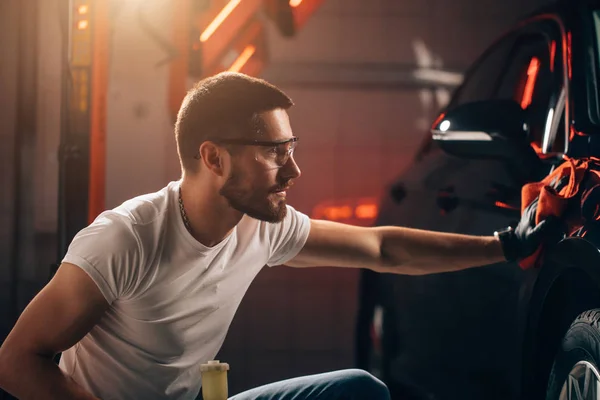
<svg viewBox="0 0 600 400"><path fill-rule="evenodd" d="M278 189L289 186L288 182L281 183L266 191L252 190L245 184L244 174L238 169L231 171L229 178L219 191L219 194L229 202L235 210L247 214L249 217L265 222L281 222L287 215L285 198L271 200L271 196Z"/></svg>

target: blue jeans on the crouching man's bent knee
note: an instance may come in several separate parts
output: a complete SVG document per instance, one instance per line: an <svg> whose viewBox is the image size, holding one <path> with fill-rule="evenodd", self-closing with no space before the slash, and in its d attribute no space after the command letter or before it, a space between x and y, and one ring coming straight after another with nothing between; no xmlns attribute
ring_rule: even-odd
<svg viewBox="0 0 600 400"><path fill-rule="evenodd" d="M345 369L270 383L230 400L390 400L383 382L360 369Z"/></svg>

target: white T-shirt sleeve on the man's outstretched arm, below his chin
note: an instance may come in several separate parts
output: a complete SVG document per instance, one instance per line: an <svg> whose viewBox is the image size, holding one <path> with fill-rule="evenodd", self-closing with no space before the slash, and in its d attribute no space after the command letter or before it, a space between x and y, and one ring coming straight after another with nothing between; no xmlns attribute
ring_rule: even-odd
<svg viewBox="0 0 600 400"><path fill-rule="evenodd" d="M267 265L285 264L302 250L310 233L310 218L287 206L282 222L269 224L270 256Z"/></svg>

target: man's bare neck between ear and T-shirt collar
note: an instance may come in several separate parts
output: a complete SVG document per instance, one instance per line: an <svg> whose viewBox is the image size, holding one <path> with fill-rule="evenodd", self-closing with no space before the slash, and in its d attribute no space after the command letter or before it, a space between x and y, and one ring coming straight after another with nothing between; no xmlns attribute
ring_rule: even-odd
<svg viewBox="0 0 600 400"><path fill-rule="evenodd" d="M207 247L223 241L243 217L210 182L198 177L183 177L181 199L192 236Z"/></svg>

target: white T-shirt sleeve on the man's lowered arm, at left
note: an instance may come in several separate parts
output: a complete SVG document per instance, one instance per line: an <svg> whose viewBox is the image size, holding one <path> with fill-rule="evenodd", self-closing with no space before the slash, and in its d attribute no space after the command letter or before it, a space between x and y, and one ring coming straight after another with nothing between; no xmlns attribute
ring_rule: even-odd
<svg viewBox="0 0 600 400"><path fill-rule="evenodd" d="M141 259L132 224L119 216L101 214L75 235L62 261L83 269L112 303L131 294Z"/></svg>

